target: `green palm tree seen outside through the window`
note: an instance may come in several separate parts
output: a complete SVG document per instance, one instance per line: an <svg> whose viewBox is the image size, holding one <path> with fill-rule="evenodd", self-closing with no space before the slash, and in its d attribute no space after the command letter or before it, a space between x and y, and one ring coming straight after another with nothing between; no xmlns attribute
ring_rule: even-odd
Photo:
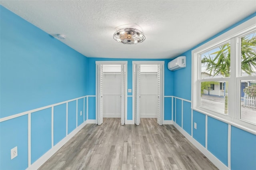
<svg viewBox="0 0 256 170"><path fill-rule="evenodd" d="M213 57L212 57L213 56ZM230 76L230 43L220 46L220 49L214 53L204 55L201 61L206 64L206 71L210 75ZM241 70L242 73L251 75L256 71L256 33L241 38ZM228 113L228 81L225 83L225 109Z"/></svg>

